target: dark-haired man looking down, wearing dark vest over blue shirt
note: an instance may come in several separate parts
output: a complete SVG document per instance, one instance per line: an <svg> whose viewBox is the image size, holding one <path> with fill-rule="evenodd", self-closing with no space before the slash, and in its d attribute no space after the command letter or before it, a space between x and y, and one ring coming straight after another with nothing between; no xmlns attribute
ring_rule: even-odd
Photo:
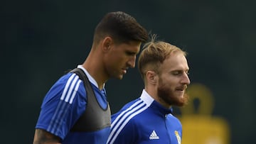
<svg viewBox="0 0 256 144"><path fill-rule="evenodd" d="M110 107L105 83L122 79L135 66L147 38L146 30L129 14L107 13L95 28L85 62L60 77L43 99L33 144L106 143Z"/></svg>

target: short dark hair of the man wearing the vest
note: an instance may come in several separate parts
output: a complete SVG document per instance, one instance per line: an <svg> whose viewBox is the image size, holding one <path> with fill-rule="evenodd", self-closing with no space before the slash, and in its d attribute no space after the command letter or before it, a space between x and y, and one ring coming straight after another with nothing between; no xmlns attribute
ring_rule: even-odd
<svg viewBox="0 0 256 144"><path fill-rule="evenodd" d="M148 40L148 33L136 19L122 11L107 13L95 28L94 42L110 36L116 43Z"/></svg>

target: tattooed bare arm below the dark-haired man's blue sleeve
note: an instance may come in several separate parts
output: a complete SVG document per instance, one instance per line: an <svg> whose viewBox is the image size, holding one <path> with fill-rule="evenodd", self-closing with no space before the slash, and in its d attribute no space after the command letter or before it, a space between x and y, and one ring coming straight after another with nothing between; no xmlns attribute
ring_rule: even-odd
<svg viewBox="0 0 256 144"><path fill-rule="evenodd" d="M36 129L33 144L61 144L60 138L42 129Z"/></svg>

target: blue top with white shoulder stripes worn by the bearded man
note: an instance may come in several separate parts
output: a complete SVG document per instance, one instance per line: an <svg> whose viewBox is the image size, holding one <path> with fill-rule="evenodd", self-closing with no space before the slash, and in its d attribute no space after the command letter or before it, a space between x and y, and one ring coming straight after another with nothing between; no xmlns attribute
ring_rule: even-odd
<svg viewBox="0 0 256 144"><path fill-rule="evenodd" d="M180 144L182 127L178 118L143 90L139 99L112 115L107 144Z"/></svg>

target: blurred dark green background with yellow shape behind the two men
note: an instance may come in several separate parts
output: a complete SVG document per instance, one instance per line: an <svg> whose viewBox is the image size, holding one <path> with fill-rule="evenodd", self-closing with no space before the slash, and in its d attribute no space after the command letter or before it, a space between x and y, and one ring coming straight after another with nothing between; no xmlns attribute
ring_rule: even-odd
<svg viewBox="0 0 256 144"><path fill-rule="evenodd" d="M0 143L32 143L43 97L84 62L94 28L109 11L131 14L188 52L195 101L174 109L184 143L256 143L255 6L254 0L1 1ZM137 67L106 88L115 113L142 92ZM208 135L208 142L193 141Z"/></svg>

